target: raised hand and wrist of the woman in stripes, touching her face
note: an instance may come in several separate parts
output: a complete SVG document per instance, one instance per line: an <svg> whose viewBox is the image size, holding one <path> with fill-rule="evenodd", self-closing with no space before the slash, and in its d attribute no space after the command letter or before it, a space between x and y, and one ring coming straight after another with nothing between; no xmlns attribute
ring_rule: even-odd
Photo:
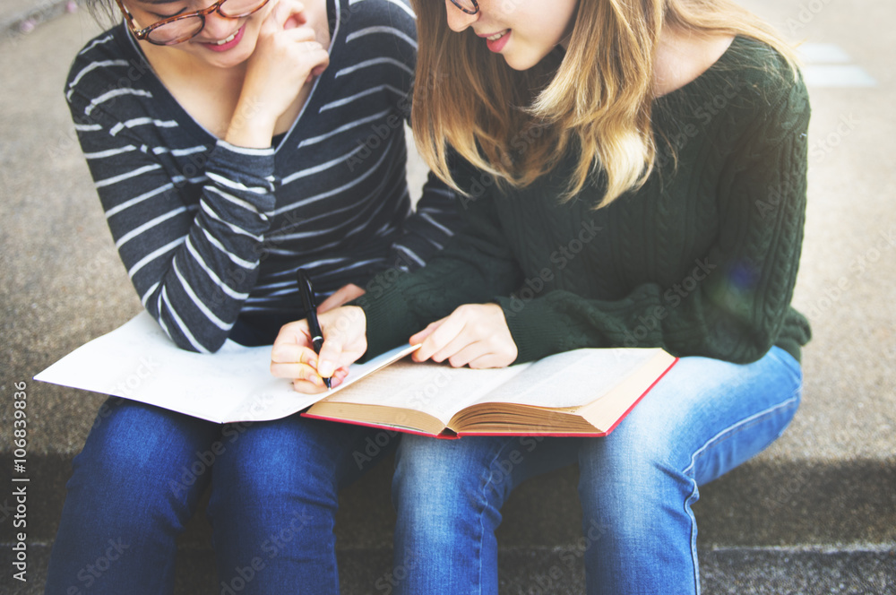
<svg viewBox="0 0 896 595"><path fill-rule="evenodd" d="M279 0L262 22L252 56L246 62L246 79L225 135L231 144L266 148L277 119L298 92L330 64L327 48L306 22L305 6L296 0Z"/></svg>

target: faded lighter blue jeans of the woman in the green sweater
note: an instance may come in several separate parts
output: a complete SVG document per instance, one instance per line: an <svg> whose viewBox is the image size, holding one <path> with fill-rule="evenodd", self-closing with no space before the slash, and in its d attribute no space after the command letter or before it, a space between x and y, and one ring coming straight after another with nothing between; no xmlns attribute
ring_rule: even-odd
<svg viewBox="0 0 896 595"><path fill-rule="evenodd" d="M777 348L743 366L682 358L604 438L403 436L396 592L497 593L501 505L523 479L577 461L588 592L698 593L697 487L771 444L801 384Z"/></svg>

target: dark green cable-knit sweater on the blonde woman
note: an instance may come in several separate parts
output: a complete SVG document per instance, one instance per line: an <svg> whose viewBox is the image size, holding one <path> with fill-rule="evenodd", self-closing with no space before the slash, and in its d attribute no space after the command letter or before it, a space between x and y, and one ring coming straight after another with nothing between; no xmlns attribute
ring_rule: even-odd
<svg viewBox="0 0 896 595"><path fill-rule="evenodd" d="M653 106L657 167L594 210L597 177L561 203L574 154L502 192L461 168L468 225L418 272L386 272L358 299L367 357L467 303L504 309L517 361L582 347L662 347L745 363L795 358L809 325L790 306L806 211L802 82L737 38L694 82ZM663 140L665 139L665 141Z"/></svg>

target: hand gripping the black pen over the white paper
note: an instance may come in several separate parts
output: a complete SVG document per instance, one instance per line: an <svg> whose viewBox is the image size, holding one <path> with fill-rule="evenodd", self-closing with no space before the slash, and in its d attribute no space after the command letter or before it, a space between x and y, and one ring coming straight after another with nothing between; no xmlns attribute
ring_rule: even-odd
<svg viewBox="0 0 896 595"><path fill-rule="evenodd" d="M314 352L306 320L284 325L271 348L271 374L292 380L297 392L324 392L323 378L332 378L332 386L339 386L349 364L367 349L366 318L358 306L329 310L318 320L323 332L320 355Z"/></svg>

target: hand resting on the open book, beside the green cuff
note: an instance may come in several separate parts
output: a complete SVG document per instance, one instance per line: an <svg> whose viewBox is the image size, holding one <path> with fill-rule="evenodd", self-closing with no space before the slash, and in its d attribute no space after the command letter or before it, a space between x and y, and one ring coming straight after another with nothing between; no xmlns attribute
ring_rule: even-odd
<svg viewBox="0 0 896 595"><path fill-rule="evenodd" d="M506 367L517 356L516 343L497 304L467 304L451 315L429 324L410 338L411 345L422 343L414 361L444 360L453 367L474 369Z"/></svg>

